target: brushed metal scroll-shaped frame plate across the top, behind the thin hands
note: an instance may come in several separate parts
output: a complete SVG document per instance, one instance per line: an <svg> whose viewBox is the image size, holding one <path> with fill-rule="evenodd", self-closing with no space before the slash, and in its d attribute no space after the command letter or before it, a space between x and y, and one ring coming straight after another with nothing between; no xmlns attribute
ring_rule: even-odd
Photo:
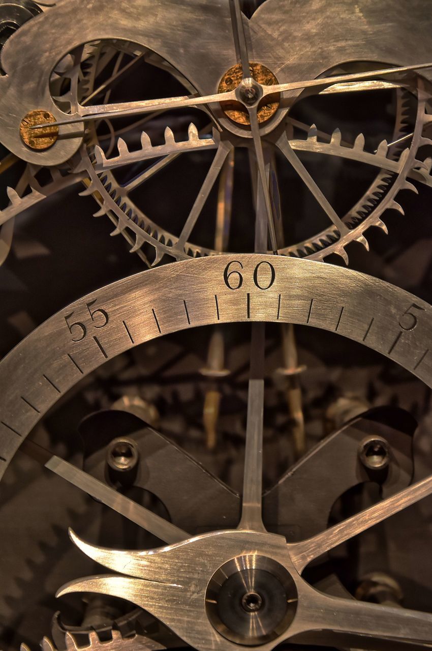
<svg viewBox="0 0 432 651"><path fill-rule="evenodd" d="M83 42L104 38L136 42L169 61L200 94L215 93L224 72L237 62L228 0L131 0L127 5L89 0L85 20L77 20L81 12L79 0L64 0L23 25L3 48L1 62L7 74L0 77L1 140L29 162L58 164L81 143L79 125L66 125L61 135L67 139L38 154L20 141L19 126L34 109L64 118L49 94L49 76L55 64ZM432 53L431 14L425 0L361 0L355 10L351 0L338 0L331 12L326 0L300 6L299 0L267 0L250 21L243 17L243 25L250 59L267 66L282 84L315 79L345 61L409 66L429 61ZM424 71L427 79L431 75L431 70ZM301 92L293 89L288 96ZM278 110L271 128L284 112ZM241 133L223 115L219 120Z"/></svg>

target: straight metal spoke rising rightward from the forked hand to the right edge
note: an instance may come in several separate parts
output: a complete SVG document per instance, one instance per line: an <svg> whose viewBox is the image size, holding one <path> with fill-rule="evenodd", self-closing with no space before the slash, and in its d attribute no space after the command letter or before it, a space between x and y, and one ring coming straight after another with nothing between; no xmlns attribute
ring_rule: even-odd
<svg viewBox="0 0 432 651"><path fill-rule="evenodd" d="M329 549L333 549L345 542L345 540L349 540L362 533L362 531L370 529L373 525L390 518L390 516L407 508L407 506L411 506L420 499L427 497L427 495L431 495L431 493L432 475L312 538L290 544L288 548L297 572L302 572L306 565L329 551Z"/></svg>

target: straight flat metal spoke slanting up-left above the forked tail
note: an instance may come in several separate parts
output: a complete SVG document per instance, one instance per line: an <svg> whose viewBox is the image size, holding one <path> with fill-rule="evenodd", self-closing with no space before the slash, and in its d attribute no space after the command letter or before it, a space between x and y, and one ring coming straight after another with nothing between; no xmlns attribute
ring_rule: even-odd
<svg viewBox="0 0 432 651"><path fill-rule="evenodd" d="M31 456L40 464L43 464L47 469L59 475L59 477L66 479L70 484L81 488L81 490L94 497L94 499L120 513L124 518L135 522L135 524L146 529L146 531L150 531L157 538L172 544L187 540L187 538L191 537L188 533L182 531L182 529L178 529L178 527L169 521L160 518L152 511L144 508L144 506L133 502L129 497L125 497L121 493L116 492L113 488L107 486L107 484L103 484L75 465L69 464L55 454L51 454L49 450L44 449L37 443L23 441L20 451Z"/></svg>

